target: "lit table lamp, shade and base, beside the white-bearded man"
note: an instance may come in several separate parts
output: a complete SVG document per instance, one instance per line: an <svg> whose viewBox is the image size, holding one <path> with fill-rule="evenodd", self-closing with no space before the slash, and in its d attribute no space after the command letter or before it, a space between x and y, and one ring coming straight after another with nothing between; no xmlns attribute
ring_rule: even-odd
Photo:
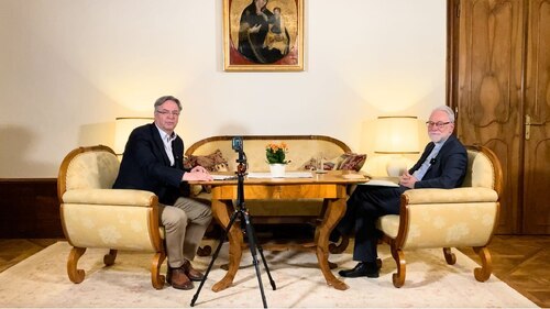
<svg viewBox="0 0 550 309"><path fill-rule="evenodd" d="M413 115L389 115L376 119L374 153L388 154L386 172L398 177L407 170L404 154L418 154L418 120Z"/></svg>

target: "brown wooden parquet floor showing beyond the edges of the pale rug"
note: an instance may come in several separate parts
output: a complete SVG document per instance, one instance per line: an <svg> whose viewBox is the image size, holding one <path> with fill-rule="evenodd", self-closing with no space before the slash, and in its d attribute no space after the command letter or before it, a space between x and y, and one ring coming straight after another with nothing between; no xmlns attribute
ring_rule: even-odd
<svg viewBox="0 0 550 309"><path fill-rule="evenodd" d="M0 240L0 272L57 240ZM550 236L494 236L490 245L493 274L542 308L550 308ZM479 262L471 249L464 254Z"/></svg>

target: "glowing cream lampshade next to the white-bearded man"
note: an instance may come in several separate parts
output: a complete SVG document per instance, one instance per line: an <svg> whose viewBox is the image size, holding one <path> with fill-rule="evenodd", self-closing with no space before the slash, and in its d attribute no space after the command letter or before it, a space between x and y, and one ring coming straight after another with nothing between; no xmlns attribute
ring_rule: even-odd
<svg viewBox="0 0 550 309"><path fill-rule="evenodd" d="M417 154L418 120L413 115L378 117L374 152L378 154Z"/></svg>

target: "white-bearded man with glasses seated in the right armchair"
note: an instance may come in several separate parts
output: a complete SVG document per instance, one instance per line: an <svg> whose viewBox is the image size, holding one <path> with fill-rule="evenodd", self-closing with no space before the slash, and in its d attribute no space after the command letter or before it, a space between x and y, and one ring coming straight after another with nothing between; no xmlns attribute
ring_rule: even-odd
<svg viewBox="0 0 550 309"><path fill-rule="evenodd" d="M468 166L468 154L457 140L454 113L447 107L436 108L426 122L431 142L420 159L399 177L399 187L358 186L348 200L344 217L334 229L331 239L350 234L355 230L352 269L340 271L342 277L378 277L376 220L385 214L399 214L400 196L414 188L457 188L462 185Z"/></svg>

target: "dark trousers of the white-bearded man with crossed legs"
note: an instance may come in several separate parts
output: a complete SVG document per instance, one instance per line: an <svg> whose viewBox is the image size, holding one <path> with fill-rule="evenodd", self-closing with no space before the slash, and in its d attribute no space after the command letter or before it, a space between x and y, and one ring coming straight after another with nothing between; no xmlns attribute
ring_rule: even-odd
<svg viewBox="0 0 550 309"><path fill-rule="evenodd" d="M355 231L353 260L376 262L378 231L376 220L385 214L399 214L402 194L406 187L358 186L348 199L345 214L337 229L342 234Z"/></svg>

